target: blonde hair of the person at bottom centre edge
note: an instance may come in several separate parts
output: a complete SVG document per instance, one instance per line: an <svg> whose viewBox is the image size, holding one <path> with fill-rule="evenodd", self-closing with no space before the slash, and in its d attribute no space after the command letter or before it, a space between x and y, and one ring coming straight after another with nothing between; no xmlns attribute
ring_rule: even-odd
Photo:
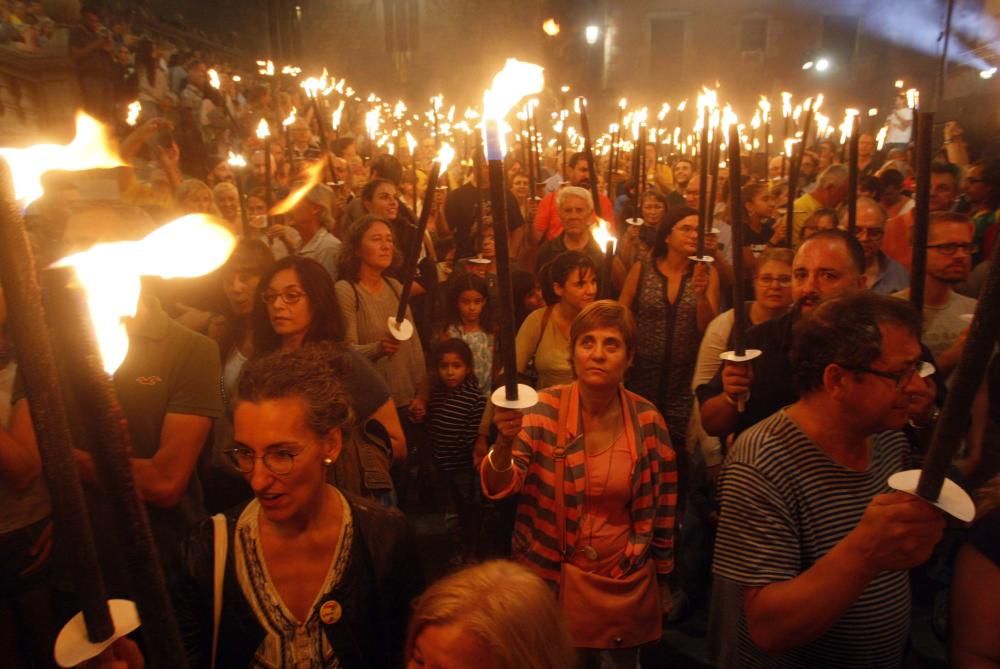
<svg viewBox="0 0 1000 669"><path fill-rule="evenodd" d="M496 669L571 669L573 645L545 582L514 562L493 560L441 579L416 602L409 659L428 625L459 625L486 644Z"/></svg>

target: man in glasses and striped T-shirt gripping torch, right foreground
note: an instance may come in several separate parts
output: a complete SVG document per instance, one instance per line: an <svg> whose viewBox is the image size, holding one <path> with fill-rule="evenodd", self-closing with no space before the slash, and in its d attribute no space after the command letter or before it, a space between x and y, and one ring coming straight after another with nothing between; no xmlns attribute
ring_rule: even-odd
<svg viewBox="0 0 1000 669"><path fill-rule="evenodd" d="M741 434L719 478L719 666L901 665L908 570L945 526L887 484L907 468L912 397L929 391L919 335L912 306L868 291L795 326L799 399Z"/></svg>

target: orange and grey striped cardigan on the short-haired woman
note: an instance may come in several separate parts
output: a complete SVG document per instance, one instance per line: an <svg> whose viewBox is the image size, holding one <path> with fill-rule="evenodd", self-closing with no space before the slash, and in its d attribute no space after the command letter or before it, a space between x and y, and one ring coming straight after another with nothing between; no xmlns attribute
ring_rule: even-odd
<svg viewBox="0 0 1000 669"><path fill-rule="evenodd" d="M571 393L569 414L563 426L559 403L563 393ZM643 564L652 552L657 574L673 569L674 511L677 505L677 468L667 427L656 408L624 388L619 389L625 431L632 454L632 499L629 515L632 530L628 546L612 576L621 578ZM574 547L580 528L585 496L586 453L576 383L539 392L538 404L525 412L521 433L513 446L514 478L504 490L491 493L486 488L483 459L483 494L503 499L520 493L512 541L514 558L536 571L558 589L563 557L556 532L555 464L552 457L557 430L566 436L566 466L563 480L566 501L566 546Z"/></svg>

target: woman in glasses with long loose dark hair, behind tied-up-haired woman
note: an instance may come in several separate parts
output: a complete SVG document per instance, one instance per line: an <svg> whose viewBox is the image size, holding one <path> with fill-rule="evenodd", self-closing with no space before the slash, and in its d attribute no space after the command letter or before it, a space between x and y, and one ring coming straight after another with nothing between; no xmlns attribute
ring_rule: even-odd
<svg viewBox="0 0 1000 669"><path fill-rule="evenodd" d="M341 381L349 391L359 436L364 437L358 443L358 458L367 476L359 482L352 473L336 471L341 477L350 476L355 492L391 505L395 500L388 471L392 460L405 456L406 438L382 375L346 345L342 323L333 282L323 266L302 256L282 258L260 280L253 314L253 353L292 351L317 342L341 344L348 373ZM353 450L350 454L353 458ZM345 459L341 464L357 463ZM343 478L341 482L346 485Z"/></svg>

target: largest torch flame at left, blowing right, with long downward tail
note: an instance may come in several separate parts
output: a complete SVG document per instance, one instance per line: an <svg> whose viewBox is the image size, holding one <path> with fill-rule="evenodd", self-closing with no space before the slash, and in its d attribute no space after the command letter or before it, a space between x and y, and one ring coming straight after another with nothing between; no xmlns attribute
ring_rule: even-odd
<svg viewBox="0 0 1000 669"><path fill-rule="evenodd" d="M192 278L226 261L236 239L211 216L194 214L168 223L140 241L97 244L56 263L73 267L87 295L87 308L104 370L114 374L128 354L124 319L134 317L142 276Z"/></svg>

